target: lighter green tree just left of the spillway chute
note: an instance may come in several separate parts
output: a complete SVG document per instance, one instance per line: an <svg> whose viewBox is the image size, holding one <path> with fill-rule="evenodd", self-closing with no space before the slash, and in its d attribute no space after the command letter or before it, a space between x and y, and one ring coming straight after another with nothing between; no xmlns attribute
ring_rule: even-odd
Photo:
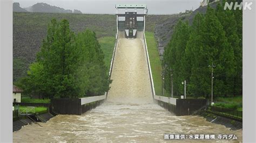
<svg viewBox="0 0 256 143"><path fill-rule="evenodd" d="M104 54L100 49L95 32L86 30L77 35L77 45L80 47L79 67L87 71L84 75L87 83L86 92L89 95L104 94L109 90L109 76L104 63Z"/></svg>

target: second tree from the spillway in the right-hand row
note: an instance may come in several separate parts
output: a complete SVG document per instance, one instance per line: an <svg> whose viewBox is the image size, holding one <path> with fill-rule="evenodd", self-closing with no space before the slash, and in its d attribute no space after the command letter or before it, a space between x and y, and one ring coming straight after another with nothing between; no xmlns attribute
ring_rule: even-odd
<svg viewBox="0 0 256 143"><path fill-rule="evenodd" d="M203 38L205 18L197 13L191 26L190 39L186 45L186 57L190 64L190 83L187 87L189 95L204 96L210 93L210 78L208 76L207 54Z"/></svg>

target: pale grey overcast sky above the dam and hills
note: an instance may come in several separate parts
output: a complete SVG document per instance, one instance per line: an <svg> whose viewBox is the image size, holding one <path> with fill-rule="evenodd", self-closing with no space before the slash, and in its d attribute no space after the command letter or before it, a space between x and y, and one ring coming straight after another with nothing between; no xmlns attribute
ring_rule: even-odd
<svg viewBox="0 0 256 143"><path fill-rule="evenodd" d="M18 2L22 8L32 6L36 3L48 3L50 5L55 5L60 8L70 9L70 10L80 10L83 13L107 13L114 14L116 10L114 9L115 4L146 4L147 9L149 9L149 14L172 14L184 12L185 10L195 10L199 7L200 2L203 0L14 0Z"/></svg>

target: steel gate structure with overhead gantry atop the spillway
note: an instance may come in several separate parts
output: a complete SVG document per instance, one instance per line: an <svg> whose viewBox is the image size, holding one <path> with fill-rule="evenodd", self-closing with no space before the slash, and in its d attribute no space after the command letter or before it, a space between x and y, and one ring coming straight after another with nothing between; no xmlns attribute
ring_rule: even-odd
<svg viewBox="0 0 256 143"><path fill-rule="evenodd" d="M147 7L145 4L116 4L118 31L125 31L126 38L136 38L138 31L144 30Z"/></svg>

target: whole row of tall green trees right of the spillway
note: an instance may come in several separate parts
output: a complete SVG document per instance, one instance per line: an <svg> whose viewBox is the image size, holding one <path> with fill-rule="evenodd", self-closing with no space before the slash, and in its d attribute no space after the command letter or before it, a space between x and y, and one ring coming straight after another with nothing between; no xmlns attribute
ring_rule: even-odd
<svg viewBox="0 0 256 143"><path fill-rule="evenodd" d="M181 21L176 25L163 60L165 88L171 92L173 78L173 95L184 93L184 80L188 95L211 95L212 63L214 95L241 95L242 11L223 7L208 6L191 26Z"/></svg>

